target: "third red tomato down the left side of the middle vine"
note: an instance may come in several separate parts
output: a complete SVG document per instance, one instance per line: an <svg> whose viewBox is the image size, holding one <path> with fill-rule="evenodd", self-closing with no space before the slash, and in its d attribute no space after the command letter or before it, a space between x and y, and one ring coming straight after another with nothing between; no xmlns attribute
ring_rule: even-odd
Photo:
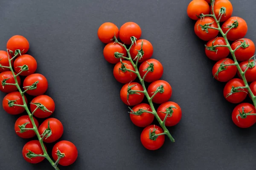
<svg viewBox="0 0 256 170"><path fill-rule="evenodd" d="M123 60L122 63L125 64L124 67L126 69L135 71L135 69L130 61ZM115 79L118 82L123 83L123 84L134 81L137 77L137 74L130 72L130 71L125 71L125 68L122 68L122 63L121 62L116 63L116 65L113 69L113 75L114 75Z"/></svg>

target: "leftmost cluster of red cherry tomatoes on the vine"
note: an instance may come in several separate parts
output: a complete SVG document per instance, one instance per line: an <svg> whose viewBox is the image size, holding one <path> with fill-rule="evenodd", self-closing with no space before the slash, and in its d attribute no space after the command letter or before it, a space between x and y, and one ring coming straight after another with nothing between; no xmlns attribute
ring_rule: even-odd
<svg viewBox="0 0 256 170"><path fill-rule="evenodd" d="M48 126L50 127L51 135L46 135L43 138L43 142L52 143L57 141L63 134L62 123L58 119L48 118L39 126L37 120L51 116L55 110L55 102L50 96L44 94L47 91L48 82L44 75L35 73L37 69L35 58L26 54L29 50L28 40L23 36L15 35L8 40L6 47L9 54L7 51L0 51L0 81L2 82L0 91L6 93L6 96L3 99L3 109L12 115L22 115L26 109L30 108L30 113L33 113L32 118L35 122L36 131L38 130L41 136L46 130L49 132ZM12 59L12 57L15 56L16 50L20 50L20 53L17 53L17 56ZM10 68L8 68L10 67L9 63L11 63L15 77ZM16 84L15 79L17 79L17 84L20 87L22 78L24 79L23 88L21 89L23 89L23 92L25 91L23 94L19 91L17 86L14 85ZM33 97L29 107L27 105L27 95ZM26 107L23 103L23 98L26 101ZM32 121L27 114L22 115L17 119L14 127L15 132L17 136L24 139L30 139L36 136L34 130L23 130L22 128L33 128ZM26 161L33 164L39 163L45 159L45 157L42 156L29 158L29 156L26 156L29 152L28 150L35 154L44 155L39 140L31 140L27 142L23 147L22 155ZM56 155L57 150L65 154L65 157L61 158L59 161L59 164L63 166L73 164L78 156L76 146L69 141L62 140L54 145L52 149L52 157L55 161L58 159L58 156Z"/></svg>

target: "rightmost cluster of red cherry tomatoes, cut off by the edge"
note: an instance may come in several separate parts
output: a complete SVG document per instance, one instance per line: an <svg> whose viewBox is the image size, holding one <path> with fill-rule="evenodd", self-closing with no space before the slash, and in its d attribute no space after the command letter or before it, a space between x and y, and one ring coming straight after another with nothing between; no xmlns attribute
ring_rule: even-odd
<svg viewBox="0 0 256 170"><path fill-rule="evenodd" d="M195 34L201 40L207 41L205 45L206 56L216 61L212 68L212 75L216 80L226 82L223 91L225 99L228 102L239 104L233 110L233 122L238 127L247 128L256 123L256 116L241 118L241 116L238 116L239 112L242 114L250 111L250 113L256 113L256 109L250 103L241 103L246 99L248 90L246 88L238 88L245 86L244 81L241 79L241 74L236 65L233 65L235 61L232 57L229 57L230 49L225 46L227 43L224 37L218 37L219 31L214 29L218 28L215 19L211 16L199 18L201 14L213 14L212 6L209 3L210 0L192 0L187 7L187 14L192 20L196 20L194 26ZM221 10L224 11L224 9L225 13L221 15ZM247 33L246 21L241 17L232 17L233 6L229 0L215 0L213 11L216 19L221 24L221 30L224 34L227 33L227 40L231 44L230 48L232 50L236 49L234 54L241 70L245 71L247 66L250 65L245 73L245 78L250 83L251 91L256 95L256 67L254 67L255 59L252 59L255 53L255 45L252 40L244 38ZM204 29L205 27L201 27L205 24L214 28ZM224 46L216 47L215 45ZM250 94L248 96L251 98Z"/></svg>

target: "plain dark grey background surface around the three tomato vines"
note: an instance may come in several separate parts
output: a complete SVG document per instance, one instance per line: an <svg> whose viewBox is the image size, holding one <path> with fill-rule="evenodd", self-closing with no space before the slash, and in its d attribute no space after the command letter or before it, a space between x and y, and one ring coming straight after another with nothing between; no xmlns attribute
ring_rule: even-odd
<svg viewBox="0 0 256 170"><path fill-rule="evenodd" d="M204 43L194 34L195 21L186 8L190 0L2 0L0 49L15 34L30 42L28 54L38 62L37 73L47 77L47 95L55 101L52 115L64 125L61 140L73 142L77 161L61 170L253 170L256 127L240 129L231 113L236 105L222 94L225 83L212 78ZM232 1L233 16L248 24L246 37L256 42L255 0ZM119 28L133 21L154 47L152 58L162 62L161 79L173 89L171 101L182 108L182 119L169 130L176 142L146 150L143 128L132 124L105 61L97 30L113 22ZM1 99L5 94L0 93ZM20 116L20 115L19 115ZM28 141L19 138L19 116L0 108L0 169L50 170L47 160L27 163L21 154ZM41 121L40 121L41 122ZM51 152L52 145L47 144Z"/></svg>

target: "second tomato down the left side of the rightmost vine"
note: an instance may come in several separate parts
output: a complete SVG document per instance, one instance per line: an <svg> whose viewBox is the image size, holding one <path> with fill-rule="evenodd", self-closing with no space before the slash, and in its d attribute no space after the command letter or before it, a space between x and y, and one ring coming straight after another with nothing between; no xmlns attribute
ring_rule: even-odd
<svg viewBox="0 0 256 170"><path fill-rule="evenodd" d="M217 37L218 35L218 30L212 29L212 28L207 28L208 33L205 29L202 29L201 26L204 26L205 24L209 24L209 26L218 28L215 20L212 17L204 17L204 19L199 19L195 23L194 31L195 34L204 41L209 41L212 40L213 38Z"/></svg>

